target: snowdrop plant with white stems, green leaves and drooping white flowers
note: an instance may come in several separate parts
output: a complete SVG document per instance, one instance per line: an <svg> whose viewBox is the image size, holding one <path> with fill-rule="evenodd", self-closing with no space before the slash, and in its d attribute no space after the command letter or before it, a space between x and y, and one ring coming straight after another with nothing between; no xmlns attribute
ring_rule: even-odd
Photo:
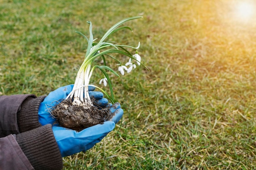
<svg viewBox="0 0 256 170"><path fill-rule="evenodd" d="M92 23L88 21L88 24L90 24L89 32L90 32L90 38L88 39L85 35L83 35L81 32L76 32L82 35L88 42L87 51L85 54L84 61L79 68L79 71L76 75L76 80L74 82L74 87L72 89L72 92L67 96L66 99L71 98L73 99L72 104L75 106L93 106L92 101L90 99L89 93L88 93L88 86L94 86L90 84L90 78L92 76L92 73L95 68L98 68L101 73L103 74L103 78L100 80L99 84L103 83L104 86L109 85L110 88L110 95L106 93L103 89L99 88L98 86L94 86L98 89L100 89L110 100L112 103L114 103L114 94L112 90L112 83L109 77L109 72L113 73L114 75L119 76L119 74L112 68L106 65L106 58L110 57L111 59L115 60L117 62L118 71L121 73L121 75L124 75L125 71L130 73L132 71L132 68L136 68L136 65L133 61L136 61L138 65L141 64L141 57L139 56L137 49L139 49L140 43L137 47L128 46L128 45L122 45L118 44L117 42L108 42L105 41L106 38L108 38L109 35L115 33L116 31L122 30L122 29L129 29L132 31L132 29L129 26L121 26L124 24L124 22L127 22L129 20L134 20L142 18L141 16L135 16L126 18L124 20L121 20L117 22L114 26L112 26L99 40L99 42L94 42L97 39L93 38L92 34ZM120 27L121 26L121 27ZM132 55L127 49L134 49L135 55ZM126 56L129 58L129 61L126 64L122 64L120 60L117 59L117 57L114 57L112 54L117 53L121 56ZM95 62L94 60L98 57L101 57L103 60L103 65L99 66L97 64L93 65ZM143 64L141 64L143 65ZM129 66L129 68L127 68ZM144 66L144 65L143 65ZM144 66L146 68L146 66Z"/></svg>

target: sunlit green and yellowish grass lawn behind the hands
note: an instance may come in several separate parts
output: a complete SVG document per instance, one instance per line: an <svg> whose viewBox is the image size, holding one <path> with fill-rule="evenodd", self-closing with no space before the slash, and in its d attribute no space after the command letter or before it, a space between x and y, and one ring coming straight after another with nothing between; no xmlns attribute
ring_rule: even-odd
<svg viewBox="0 0 256 170"><path fill-rule="evenodd" d="M126 24L133 32L110 38L140 41L150 69L112 79L119 132L65 157L64 169L256 169L256 17L235 18L238 2L0 0L0 93L39 96L74 83L86 49L75 31L88 35L90 20L100 38L143 15Z"/></svg>

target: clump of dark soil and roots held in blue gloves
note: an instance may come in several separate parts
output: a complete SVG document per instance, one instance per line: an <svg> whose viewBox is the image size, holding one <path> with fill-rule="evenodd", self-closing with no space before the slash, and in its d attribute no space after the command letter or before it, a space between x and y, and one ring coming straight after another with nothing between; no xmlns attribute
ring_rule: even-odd
<svg viewBox="0 0 256 170"><path fill-rule="evenodd" d="M109 108L74 106L72 99L64 99L52 110L52 116L58 119L62 127L77 131L100 124L106 121L109 115Z"/></svg>

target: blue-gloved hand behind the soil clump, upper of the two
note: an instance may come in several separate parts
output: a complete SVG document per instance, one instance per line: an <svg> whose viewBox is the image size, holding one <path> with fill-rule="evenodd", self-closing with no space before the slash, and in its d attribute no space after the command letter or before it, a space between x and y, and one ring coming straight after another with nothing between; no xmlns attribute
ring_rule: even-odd
<svg viewBox="0 0 256 170"><path fill-rule="evenodd" d="M47 97L40 104L38 109L38 118L41 125L52 124L53 126L58 126L56 119L50 114L50 110L53 106L65 99L67 95L72 91L73 84L63 86L55 91L49 93ZM103 93L99 91L94 92L94 87L89 86L89 95L94 97L94 104L104 107L108 104L108 99L103 98Z"/></svg>

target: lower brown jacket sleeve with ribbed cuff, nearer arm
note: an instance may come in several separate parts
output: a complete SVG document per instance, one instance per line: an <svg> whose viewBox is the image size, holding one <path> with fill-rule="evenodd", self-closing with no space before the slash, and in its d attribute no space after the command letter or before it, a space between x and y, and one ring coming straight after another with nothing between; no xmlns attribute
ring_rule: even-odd
<svg viewBox="0 0 256 170"><path fill-rule="evenodd" d="M61 152L48 124L0 138L0 169L61 170Z"/></svg>

